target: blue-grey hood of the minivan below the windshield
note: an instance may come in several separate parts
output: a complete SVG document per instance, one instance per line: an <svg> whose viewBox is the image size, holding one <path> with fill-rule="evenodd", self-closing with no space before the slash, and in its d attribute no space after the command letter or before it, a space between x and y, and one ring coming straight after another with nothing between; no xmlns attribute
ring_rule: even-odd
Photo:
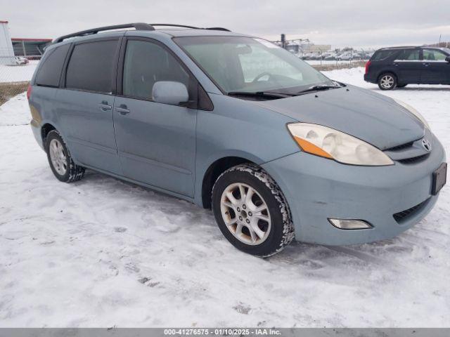
<svg viewBox="0 0 450 337"><path fill-rule="evenodd" d="M424 135L423 124L392 98L356 86L254 103L297 121L345 132L380 150Z"/></svg>

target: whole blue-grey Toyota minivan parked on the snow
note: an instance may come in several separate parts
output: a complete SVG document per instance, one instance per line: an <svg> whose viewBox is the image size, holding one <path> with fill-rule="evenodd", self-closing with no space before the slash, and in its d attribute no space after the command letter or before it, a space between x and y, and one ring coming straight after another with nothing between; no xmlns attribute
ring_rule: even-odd
<svg viewBox="0 0 450 337"><path fill-rule="evenodd" d="M413 107L264 39L155 26L46 48L27 97L58 180L93 169L212 208L226 239L256 256L294 237L387 239L435 205L445 152Z"/></svg>

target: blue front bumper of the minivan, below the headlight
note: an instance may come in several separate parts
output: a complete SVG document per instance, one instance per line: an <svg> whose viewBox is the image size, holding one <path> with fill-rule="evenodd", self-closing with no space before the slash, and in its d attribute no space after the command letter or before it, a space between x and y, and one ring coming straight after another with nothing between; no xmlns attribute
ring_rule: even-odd
<svg viewBox="0 0 450 337"><path fill-rule="evenodd" d="M417 164L352 166L297 152L262 166L285 194L297 241L362 244L404 232L435 205L432 172L445 161L445 152L434 136L432 148L430 156ZM399 222L394 219L395 213L414 206L418 207ZM328 218L366 220L373 228L341 230Z"/></svg>

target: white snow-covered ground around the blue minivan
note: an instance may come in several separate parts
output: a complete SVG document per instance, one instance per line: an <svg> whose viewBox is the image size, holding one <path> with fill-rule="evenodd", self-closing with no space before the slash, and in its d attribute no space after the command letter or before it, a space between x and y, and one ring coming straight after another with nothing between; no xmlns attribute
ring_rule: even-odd
<svg viewBox="0 0 450 337"><path fill-rule="evenodd" d="M363 71L327 74L378 91ZM448 86L383 94L450 153ZM449 326L450 187L394 239L254 258L186 201L92 171L59 183L29 114L25 94L0 107L1 327Z"/></svg>

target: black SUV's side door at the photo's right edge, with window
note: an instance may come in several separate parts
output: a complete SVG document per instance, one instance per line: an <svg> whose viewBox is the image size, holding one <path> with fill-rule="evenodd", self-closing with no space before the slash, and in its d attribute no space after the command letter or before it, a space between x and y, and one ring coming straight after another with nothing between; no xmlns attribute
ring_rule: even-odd
<svg viewBox="0 0 450 337"><path fill-rule="evenodd" d="M450 62L442 51L437 49L423 49L423 63L421 82L423 84L449 84Z"/></svg>

